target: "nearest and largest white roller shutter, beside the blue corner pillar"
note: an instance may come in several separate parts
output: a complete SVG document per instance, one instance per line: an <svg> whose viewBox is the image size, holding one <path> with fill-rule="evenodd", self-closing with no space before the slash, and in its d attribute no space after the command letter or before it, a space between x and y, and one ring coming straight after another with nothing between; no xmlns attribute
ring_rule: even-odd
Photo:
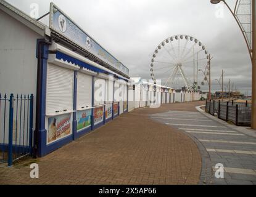
<svg viewBox="0 0 256 197"><path fill-rule="evenodd" d="M49 64L46 91L47 115L73 111L73 70Z"/></svg>

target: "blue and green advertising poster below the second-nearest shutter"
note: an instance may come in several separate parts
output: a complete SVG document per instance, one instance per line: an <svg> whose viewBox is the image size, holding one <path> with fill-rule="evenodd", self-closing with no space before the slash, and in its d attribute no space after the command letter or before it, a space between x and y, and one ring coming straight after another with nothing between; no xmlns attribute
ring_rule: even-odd
<svg viewBox="0 0 256 197"><path fill-rule="evenodd" d="M76 113L76 131L86 129L91 126L91 110L78 111Z"/></svg>

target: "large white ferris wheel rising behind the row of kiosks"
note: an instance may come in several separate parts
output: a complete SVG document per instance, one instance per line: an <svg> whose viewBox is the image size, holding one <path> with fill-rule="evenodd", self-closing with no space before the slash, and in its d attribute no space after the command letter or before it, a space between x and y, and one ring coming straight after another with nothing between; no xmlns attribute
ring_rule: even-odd
<svg viewBox="0 0 256 197"><path fill-rule="evenodd" d="M175 35L162 41L154 51L151 60L151 77L164 86L187 90L199 90L198 81L202 77L202 85L209 75L209 53L198 39L188 35ZM199 75L199 70L204 76Z"/></svg>

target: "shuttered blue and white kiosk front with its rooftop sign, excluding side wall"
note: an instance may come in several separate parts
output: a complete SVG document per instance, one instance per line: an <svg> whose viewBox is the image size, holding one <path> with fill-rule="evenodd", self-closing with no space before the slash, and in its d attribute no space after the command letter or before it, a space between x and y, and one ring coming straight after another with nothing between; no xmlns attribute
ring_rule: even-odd
<svg viewBox="0 0 256 197"><path fill-rule="evenodd" d="M49 41L38 46L42 52L35 131L39 156L128 111L128 68L54 4L49 28ZM115 99L115 90L122 99Z"/></svg>

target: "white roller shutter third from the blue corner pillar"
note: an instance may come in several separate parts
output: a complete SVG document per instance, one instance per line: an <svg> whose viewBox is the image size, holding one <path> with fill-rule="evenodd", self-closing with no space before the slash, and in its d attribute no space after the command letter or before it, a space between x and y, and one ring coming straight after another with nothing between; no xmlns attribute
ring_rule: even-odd
<svg viewBox="0 0 256 197"><path fill-rule="evenodd" d="M101 89L101 92L97 90ZM96 98L97 97L97 98ZM94 81L94 106L105 103L105 79L95 78Z"/></svg>

